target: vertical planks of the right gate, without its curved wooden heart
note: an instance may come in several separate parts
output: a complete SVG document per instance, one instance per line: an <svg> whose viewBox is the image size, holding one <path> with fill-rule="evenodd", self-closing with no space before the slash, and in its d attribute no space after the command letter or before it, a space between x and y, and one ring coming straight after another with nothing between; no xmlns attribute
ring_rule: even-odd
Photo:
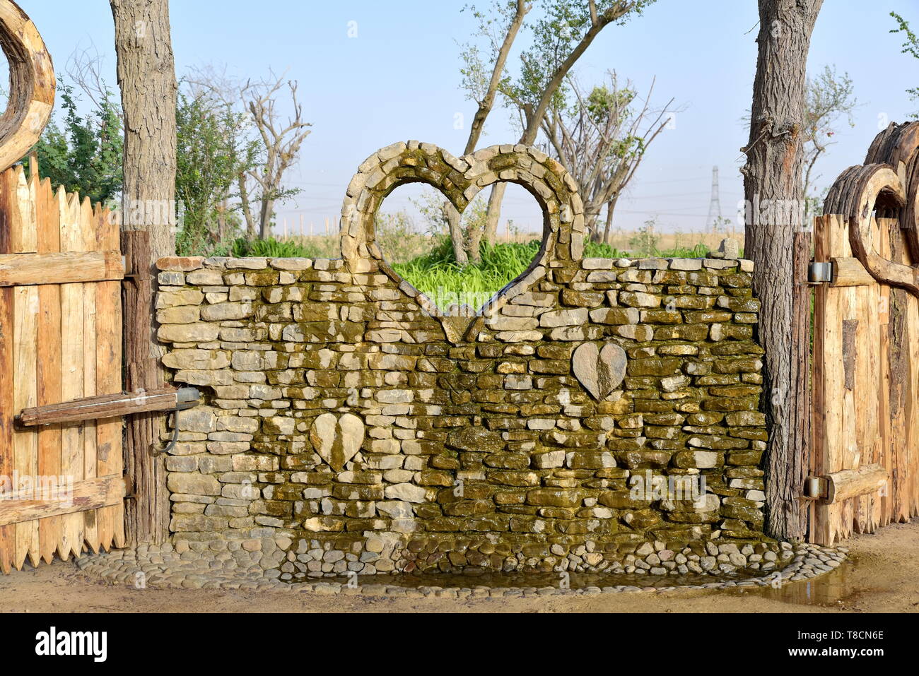
<svg viewBox="0 0 919 676"><path fill-rule="evenodd" d="M882 251L902 253L896 220L871 228ZM817 260L857 263L844 218L825 216L815 232ZM815 301L811 474L850 472L869 489L815 504L811 540L832 544L919 513L919 299L862 268Z"/></svg>

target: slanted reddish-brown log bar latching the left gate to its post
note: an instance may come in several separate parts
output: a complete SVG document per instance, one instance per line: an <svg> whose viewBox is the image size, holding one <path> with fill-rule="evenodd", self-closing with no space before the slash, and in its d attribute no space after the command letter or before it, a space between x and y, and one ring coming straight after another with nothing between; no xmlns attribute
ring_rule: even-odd
<svg viewBox="0 0 919 676"><path fill-rule="evenodd" d="M197 401L198 390L194 388L167 387L150 392L98 395L25 409L17 417L17 423L23 427L54 423L82 423L104 418L119 418L123 415L145 411L172 411L176 408L190 408Z"/></svg>

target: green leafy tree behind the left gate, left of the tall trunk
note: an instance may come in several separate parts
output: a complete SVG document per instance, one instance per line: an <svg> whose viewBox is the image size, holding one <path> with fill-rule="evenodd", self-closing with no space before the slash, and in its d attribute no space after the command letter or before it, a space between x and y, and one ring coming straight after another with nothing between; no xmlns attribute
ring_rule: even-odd
<svg viewBox="0 0 919 676"><path fill-rule="evenodd" d="M51 185L105 204L121 192L124 137L118 104L108 90L102 94L83 116L73 86L60 80L60 108L32 152L39 157L40 176Z"/></svg>

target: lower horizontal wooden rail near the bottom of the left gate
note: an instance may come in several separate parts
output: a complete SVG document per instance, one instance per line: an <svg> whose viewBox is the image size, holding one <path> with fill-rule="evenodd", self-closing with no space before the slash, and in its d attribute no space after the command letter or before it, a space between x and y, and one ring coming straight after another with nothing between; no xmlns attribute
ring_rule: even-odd
<svg viewBox="0 0 919 676"><path fill-rule="evenodd" d="M63 486L63 488L55 488L55 486ZM128 494L123 477L84 479L74 482L69 487L66 483L52 484L49 481L45 487L45 490L55 495L54 499L11 500L6 495L0 499L0 525L22 524L35 519L76 514L116 505ZM16 488L14 487L14 490ZM28 492L34 493L42 490L41 487L37 487Z"/></svg>

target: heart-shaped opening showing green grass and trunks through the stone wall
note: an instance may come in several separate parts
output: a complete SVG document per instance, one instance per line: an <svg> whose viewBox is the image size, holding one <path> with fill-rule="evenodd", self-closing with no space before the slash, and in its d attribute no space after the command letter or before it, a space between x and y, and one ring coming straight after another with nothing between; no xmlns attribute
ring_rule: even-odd
<svg viewBox="0 0 919 676"><path fill-rule="evenodd" d="M539 203L521 186L499 185L501 210L491 222L488 189L459 213L439 190L414 183L393 190L377 211L383 259L443 315L475 316L542 251Z"/></svg>

